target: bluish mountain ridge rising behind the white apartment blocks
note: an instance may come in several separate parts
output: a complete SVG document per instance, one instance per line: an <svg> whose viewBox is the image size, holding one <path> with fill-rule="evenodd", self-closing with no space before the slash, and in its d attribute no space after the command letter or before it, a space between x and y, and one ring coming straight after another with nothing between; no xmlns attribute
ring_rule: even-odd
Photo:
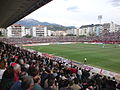
<svg viewBox="0 0 120 90"><path fill-rule="evenodd" d="M46 25L49 30L54 30L54 31L56 31L56 30L68 30L68 29L75 28L74 26L62 26L62 25L55 24L55 23L40 22L40 21L34 20L34 19L20 20L16 24L21 24L21 25L24 25L26 27L32 27L35 25Z"/></svg>

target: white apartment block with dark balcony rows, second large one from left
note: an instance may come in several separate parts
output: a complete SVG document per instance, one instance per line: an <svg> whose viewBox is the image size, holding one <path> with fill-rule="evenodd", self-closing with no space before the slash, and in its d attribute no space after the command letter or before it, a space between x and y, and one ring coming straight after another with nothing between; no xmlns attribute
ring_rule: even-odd
<svg viewBox="0 0 120 90"><path fill-rule="evenodd" d="M50 31L49 31L50 34ZM48 36L48 30L46 26L38 25L32 27L32 36L39 37L39 36Z"/></svg>

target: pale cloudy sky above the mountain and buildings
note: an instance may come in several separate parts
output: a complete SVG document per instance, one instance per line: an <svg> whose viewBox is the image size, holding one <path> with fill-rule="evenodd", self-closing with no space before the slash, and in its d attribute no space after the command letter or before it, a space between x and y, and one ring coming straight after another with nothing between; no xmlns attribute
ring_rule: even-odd
<svg viewBox="0 0 120 90"><path fill-rule="evenodd" d="M120 25L120 0L53 0L25 19L76 26L113 21Z"/></svg>

